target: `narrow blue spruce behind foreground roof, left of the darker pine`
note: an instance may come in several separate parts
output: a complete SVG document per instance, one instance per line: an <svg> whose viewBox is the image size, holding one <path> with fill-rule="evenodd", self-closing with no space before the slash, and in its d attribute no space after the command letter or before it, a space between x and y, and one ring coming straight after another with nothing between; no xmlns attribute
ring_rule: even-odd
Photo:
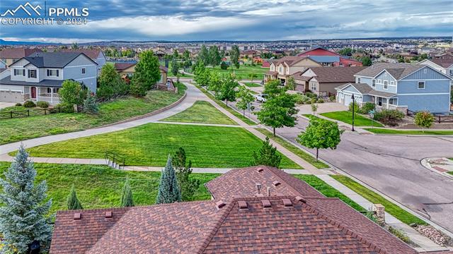
<svg viewBox="0 0 453 254"><path fill-rule="evenodd" d="M165 168L161 172L161 182L159 183L159 192L157 193L156 204L180 202L181 193L176 179L176 172L171 164L171 157Z"/></svg>

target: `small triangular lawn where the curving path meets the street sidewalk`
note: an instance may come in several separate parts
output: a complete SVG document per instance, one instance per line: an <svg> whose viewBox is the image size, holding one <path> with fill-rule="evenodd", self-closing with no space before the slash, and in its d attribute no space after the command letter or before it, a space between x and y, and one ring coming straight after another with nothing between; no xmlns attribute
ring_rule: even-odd
<svg viewBox="0 0 453 254"><path fill-rule="evenodd" d="M212 104L205 101L196 101L192 107L162 121L237 125L235 121L231 120L228 116L225 116L221 111L212 106Z"/></svg>

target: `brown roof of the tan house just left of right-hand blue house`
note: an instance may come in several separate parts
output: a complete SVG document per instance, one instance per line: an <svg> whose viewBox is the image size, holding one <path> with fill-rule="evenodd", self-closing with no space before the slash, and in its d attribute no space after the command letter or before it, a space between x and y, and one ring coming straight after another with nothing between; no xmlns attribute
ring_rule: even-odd
<svg viewBox="0 0 453 254"><path fill-rule="evenodd" d="M310 67L316 75L319 83L346 83L355 81L355 73L364 70L367 67L350 66L350 67ZM306 70L308 71L308 69ZM306 72L305 71L305 72ZM304 75L304 73L302 73Z"/></svg>

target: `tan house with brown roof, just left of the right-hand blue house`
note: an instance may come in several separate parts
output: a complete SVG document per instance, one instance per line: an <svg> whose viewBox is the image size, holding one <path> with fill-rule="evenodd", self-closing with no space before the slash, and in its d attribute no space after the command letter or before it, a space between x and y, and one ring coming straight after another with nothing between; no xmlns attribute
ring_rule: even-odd
<svg viewBox="0 0 453 254"><path fill-rule="evenodd" d="M355 82L355 73L367 67L310 67L305 71L294 73L296 90L313 92L319 96L336 95L335 87L344 83Z"/></svg>

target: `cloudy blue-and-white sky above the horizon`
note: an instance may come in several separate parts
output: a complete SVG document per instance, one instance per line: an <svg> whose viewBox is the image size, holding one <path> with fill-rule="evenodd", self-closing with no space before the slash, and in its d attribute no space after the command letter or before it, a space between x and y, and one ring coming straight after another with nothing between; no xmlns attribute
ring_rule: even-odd
<svg viewBox="0 0 453 254"><path fill-rule="evenodd" d="M1 0L0 13L27 1ZM108 40L309 40L452 36L452 0L30 1L88 8L85 25L0 25L0 38L34 42ZM22 12L22 13L21 13ZM25 16L19 10L15 17ZM11 18L4 16L0 18ZM33 16L37 17L37 16Z"/></svg>

